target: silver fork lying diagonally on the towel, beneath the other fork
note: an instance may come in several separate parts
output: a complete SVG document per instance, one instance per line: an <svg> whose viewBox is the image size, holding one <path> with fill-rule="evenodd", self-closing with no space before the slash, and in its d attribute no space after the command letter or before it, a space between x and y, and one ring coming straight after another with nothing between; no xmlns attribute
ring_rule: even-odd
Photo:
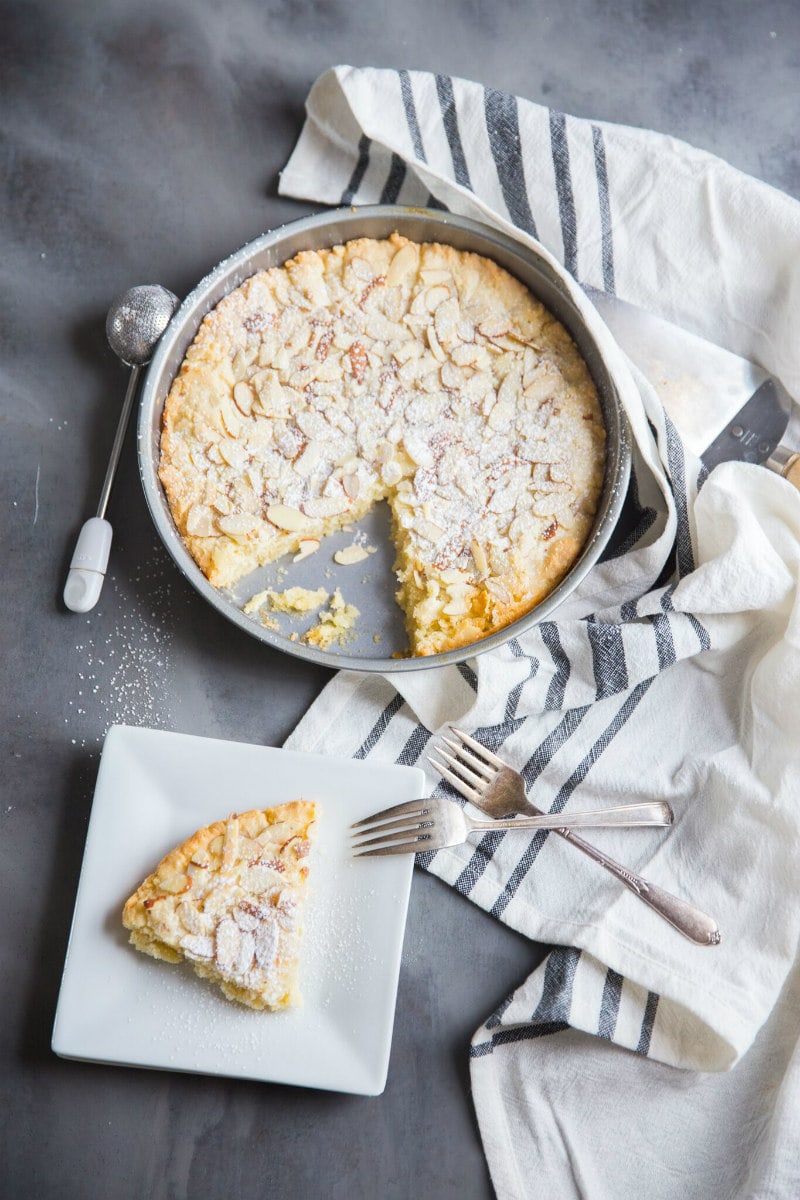
<svg viewBox="0 0 800 1200"><path fill-rule="evenodd" d="M525 784L518 770L509 767L498 755L487 750L486 746L476 742L468 733L457 730L451 725L453 734L458 739L450 738L441 740L455 751L437 748L437 752L444 760L444 764L428 756L433 767L449 780L457 792L461 792L470 804L481 809L492 817L505 817L511 812L524 816L542 815L542 810L531 804L525 796ZM492 828L499 828L495 823ZM720 926L708 913L696 908L694 905L664 892L655 883L642 878L626 866L603 854L591 842L572 833L566 822L560 821L554 829L560 836L566 838L577 850L593 858L595 863L604 866L607 871L624 883L639 900L644 900L660 917L668 920L679 932L698 946L718 946L722 935Z"/></svg>

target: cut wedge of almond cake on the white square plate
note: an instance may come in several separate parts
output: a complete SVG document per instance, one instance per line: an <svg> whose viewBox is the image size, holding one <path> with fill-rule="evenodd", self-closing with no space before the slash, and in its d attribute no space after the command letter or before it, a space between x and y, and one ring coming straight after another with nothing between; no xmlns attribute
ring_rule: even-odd
<svg viewBox="0 0 800 1200"><path fill-rule="evenodd" d="M132 944L167 962L185 959L251 1008L300 1003L315 815L313 802L293 800L199 829L125 905Z"/></svg>

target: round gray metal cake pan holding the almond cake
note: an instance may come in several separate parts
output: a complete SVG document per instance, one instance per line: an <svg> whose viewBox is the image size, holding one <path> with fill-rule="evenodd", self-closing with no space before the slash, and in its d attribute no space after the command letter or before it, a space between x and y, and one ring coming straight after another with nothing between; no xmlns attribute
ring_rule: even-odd
<svg viewBox="0 0 800 1200"><path fill-rule="evenodd" d="M338 566L332 553L353 541L353 532L326 539L309 558L282 559L252 572L233 590L212 587L181 539L158 479L160 437L164 401L200 322L228 292L255 271L278 266L301 250L320 250L354 238L387 238L398 230L413 241L441 241L457 250L474 251L494 259L521 280L566 326L583 354L595 385L607 431L603 490L594 527L569 574L535 608L503 630L470 646L425 658L403 658L407 637L403 616L395 602L393 550L389 539L387 505L378 505L357 523L359 535L377 552L357 568ZM610 353L609 353L610 349ZM401 206L338 209L305 217L275 229L242 246L211 271L186 298L158 343L150 362L139 402L138 455L142 484L156 529L178 568L196 590L243 632L300 659L335 668L356 671L419 671L463 662L501 646L537 622L551 617L601 557L616 524L631 466L630 433L621 394L631 386L621 356L614 353L602 322L575 281L547 253L509 238L488 226L449 212ZM320 587L342 593L360 610L353 641L331 650L306 646L300 640L305 624L291 618L279 630L267 629L241 611L243 602L265 587Z"/></svg>

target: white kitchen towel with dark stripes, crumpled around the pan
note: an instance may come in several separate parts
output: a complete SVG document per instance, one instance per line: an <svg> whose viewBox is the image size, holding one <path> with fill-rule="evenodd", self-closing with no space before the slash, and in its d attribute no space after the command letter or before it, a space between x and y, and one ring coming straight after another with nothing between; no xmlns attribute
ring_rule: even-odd
<svg viewBox="0 0 800 1200"><path fill-rule="evenodd" d="M281 191L427 204L537 239L582 283L800 395L800 205L672 138L337 67L311 91ZM714 949L546 833L419 858L557 947L473 1042L492 1177L501 1198L798 1195L800 496L742 463L706 476L640 376L624 403L631 532L554 618L461 667L342 673L289 745L425 766L455 722L542 809L668 800L668 835L593 839L714 913Z"/></svg>

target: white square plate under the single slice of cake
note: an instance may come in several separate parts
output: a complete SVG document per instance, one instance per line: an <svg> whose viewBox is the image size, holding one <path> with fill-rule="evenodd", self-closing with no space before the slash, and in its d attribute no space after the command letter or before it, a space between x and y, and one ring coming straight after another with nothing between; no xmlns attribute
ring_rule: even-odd
<svg viewBox="0 0 800 1200"><path fill-rule="evenodd" d="M348 827L423 794L415 767L114 726L86 834L53 1050L67 1058L378 1096L389 1069L411 854L354 859ZM140 954L125 900L205 824L284 800L319 805L303 1007L259 1013L186 964Z"/></svg>

